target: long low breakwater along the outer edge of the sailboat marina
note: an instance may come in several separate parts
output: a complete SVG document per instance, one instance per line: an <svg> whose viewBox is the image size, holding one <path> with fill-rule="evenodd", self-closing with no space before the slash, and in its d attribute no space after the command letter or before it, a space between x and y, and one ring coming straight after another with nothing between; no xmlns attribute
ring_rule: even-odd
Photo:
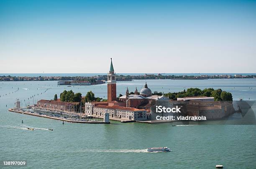
<svg viewBox="0 0 256 169"><path fill-rule="evenodd" d="M20 114L28 114L31 116L37 116L37 117L44 117L44 118L49 118L49 119L55 119L55 120L61 120L61 121L65 121L65 122L72 122L72 123L90 123L90 124L109 124L110 122L106 123L106 122L84 122L84 121L76 121L76 120L69 120L69 119L61 119L58 117L51 117L51 116L46 116L46 115L42 115L42 114L34 114L34 113L30 113L30 112L23 112L23 111L19 111L19 110L15 110L15 109L8 109L10 112L15 112L15 113L20 113Z"/></svg>

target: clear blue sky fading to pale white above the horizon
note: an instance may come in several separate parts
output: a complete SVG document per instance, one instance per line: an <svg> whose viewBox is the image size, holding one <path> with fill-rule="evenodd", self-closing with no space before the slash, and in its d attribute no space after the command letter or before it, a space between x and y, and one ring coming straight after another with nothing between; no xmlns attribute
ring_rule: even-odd
<svg viewBox="0 0 256 169"><path fill-rule="evenodd" d="M256 73L256 1L0 0L0 73Z"/></svg>

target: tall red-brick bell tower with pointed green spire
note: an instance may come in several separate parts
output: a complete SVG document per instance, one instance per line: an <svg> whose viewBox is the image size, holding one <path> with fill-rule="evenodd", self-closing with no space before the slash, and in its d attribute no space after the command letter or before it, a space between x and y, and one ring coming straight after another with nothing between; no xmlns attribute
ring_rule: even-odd
<svg viewBox="0 0 256 169"><path fill-rule="evenodd" d="M108 102L112 102L113 100L116 100L116 81L111 58L110 70L108 72Z"/></svg>

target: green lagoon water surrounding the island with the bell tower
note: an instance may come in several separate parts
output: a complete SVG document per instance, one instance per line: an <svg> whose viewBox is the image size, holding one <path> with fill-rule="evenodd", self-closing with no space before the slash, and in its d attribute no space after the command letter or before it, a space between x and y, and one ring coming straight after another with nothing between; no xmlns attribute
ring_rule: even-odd
<svg viewBox="0 0 256 169"><path fill-rule="evenodd" d="M126 87L140 90L145 80L118 82L117 94ZM233 99L256 100L256 79L147 80L152 91L177 92L189 87L221 88ZM0 160L27 160L22 168L256 168L256 125L230 125L226 121L164 124L76 124L8 112L16 98L21 106L39 99L53 99L64 89L106 98L107 86L57 86L57 82L0 82ZM16 91L19 88L18 91ZM48 89L48 90L46 90ZM15 92L16 91L16 92ZM42 94L41 94L42 93ZM33 96L33 98L32 98ZM25 101L24 101L25 100ZM6 107L7 105L7 107ZM250 114L230 119L255 119ZM23 120L23 124L21 121ZM246 119L247 120L247 119ZM242 123L241 123L242 124ZM29 131L26 127L35 128ZM49 131L48 129L54 129ZM147 147L167 146L172 152L148 153ZM3 166L0 166L3 168ZM9 167L12 168L12 167Z"/></svg>

